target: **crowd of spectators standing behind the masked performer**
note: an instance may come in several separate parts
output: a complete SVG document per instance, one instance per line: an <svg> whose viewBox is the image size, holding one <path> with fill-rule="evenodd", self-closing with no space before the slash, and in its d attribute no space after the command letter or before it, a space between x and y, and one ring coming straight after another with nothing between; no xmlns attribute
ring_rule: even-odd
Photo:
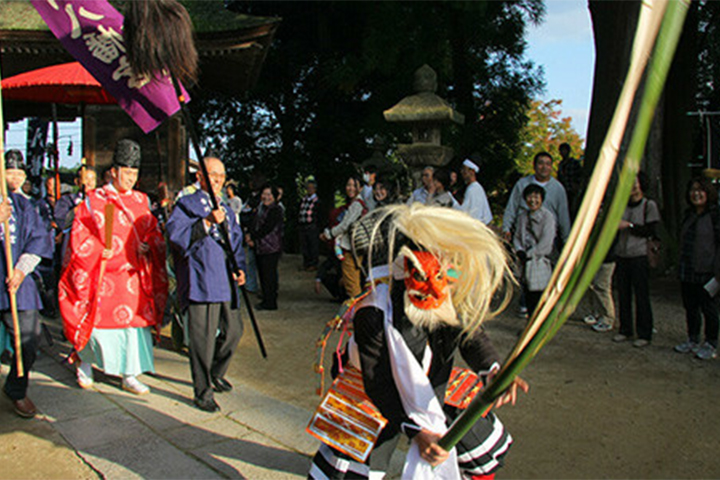
<svg viewBox="0 0 720 480"><path fill-rule="evenodd" d="M479 181L482 172L476 159L464 159L457 169L424 167L417 188L404 200L408 204L419 202L459 209L495 229L516 259L516 277L521 286L519 314L525 317L532 314L549 282L586 188L582 162L571 155L570 146L561 144L557 153L558 160L549 152L535 155L533 173L515 183L499 221L494 219ZM357 295L363 281L363 259L358 255L361 252L353 255L349 238L353 226L367 223L362 221L367 212L403 201L396 184L376 166L366 167L363 173L360 194L355 195L359 179L349 179L347 201L340 214L336 212L339 219L329 223L320 235L321 240L331 241L333 248L326 260L319 263L322 268L317 271L316 290L324 285L338 299ZM650 345L656 331L649 280L661 218L657 203L647 198L647 182L646 175L640 172L618 234L580 308L585 312L584 323L593 331L614 332L613 341L629 341L636 348ZM313 184L312 192L317 188ZM720 271L715 276L715 269L720 268L720 256L715 253L720 246L715 187L707 179L695 178L688 186L687 201L689 208L679 236L678 265L688 339L675 350L709 359L716 356L719 313L714 295L720 289L719 284L712 284L720 278ZM344 209L352 211L348 215ZM367 229L367 225L363 228ZM338 268L342 275L338 275ZM705 330L701 337L703 318Z"/></svg>

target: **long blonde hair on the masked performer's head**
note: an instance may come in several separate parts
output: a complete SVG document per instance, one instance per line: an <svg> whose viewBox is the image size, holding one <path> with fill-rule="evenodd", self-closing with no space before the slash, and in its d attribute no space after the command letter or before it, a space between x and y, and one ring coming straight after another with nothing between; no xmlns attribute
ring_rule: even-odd
<svg viewBox="0 0 720 480"><path fill-rule="evenodd" d="M507 306L514 283L508 255L497 235L482 222L458 210L419 203L392 205L371 214L368 258L378 258L374 249L386 248L391 276L393 268L399 268L394 257L406 244L402 237L457 271L452 301L465 333L472 335L484 320Z"/></svg>

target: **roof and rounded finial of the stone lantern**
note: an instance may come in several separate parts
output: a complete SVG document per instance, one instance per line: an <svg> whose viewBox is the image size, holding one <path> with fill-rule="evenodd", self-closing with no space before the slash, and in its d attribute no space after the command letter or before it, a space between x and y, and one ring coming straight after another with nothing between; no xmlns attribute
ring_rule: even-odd
<svg viewBox="0 0 720 480"><path fill-rule="evenodd" d="M415 95L403 98L392 108L383 112L388 122L405 123L449 123L463 124L465 116L452 108L443 98L438 97L437 74L429 65L423 65L415 72Z"/></svg>

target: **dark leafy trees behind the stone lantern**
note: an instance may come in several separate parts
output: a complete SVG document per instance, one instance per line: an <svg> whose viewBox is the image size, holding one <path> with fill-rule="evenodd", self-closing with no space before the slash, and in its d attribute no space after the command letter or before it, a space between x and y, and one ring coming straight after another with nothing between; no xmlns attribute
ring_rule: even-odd
<svg viewBox="0 0 720 480"><path fill-rule="evenodd" d="M328 205L342 177L370 156L370 139L407 142L409 132L382 112L413 93L425 63L438 73L438 94L466 117L444 143L459 158L479 152L487 160L486 188L512 170L525 112L542 87L523 57L525 25L542 18L541 0L226 3L283 19L252 92L194 92L193 111L231 175L260 168L289 187L314 174ZM285 190L292 208L296 192Z"/></svg>

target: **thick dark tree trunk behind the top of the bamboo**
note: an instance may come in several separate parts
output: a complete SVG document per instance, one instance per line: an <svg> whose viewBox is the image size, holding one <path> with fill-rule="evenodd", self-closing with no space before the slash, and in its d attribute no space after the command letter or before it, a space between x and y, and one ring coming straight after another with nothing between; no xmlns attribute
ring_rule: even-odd
<svg viewBox="0 0 720 480"><path fill-rule="evenodd" d="M596 62L585 150L588 174L597 162L629 67L640 2L590 0L589 7L595 34ZM688 163L692 160L693 130L696 128L696 119L689 118L687 112L693 109L697 90L697 27L697 3L693 2L655 112L641 167L650 180L646 193L658 201L662 211L661 236L670 247L665 255L673 259L677 256L675 233L686 206L685 183L690 176ZM620 162L626 153L628 140L626 136L620 147Z"/></svg>

